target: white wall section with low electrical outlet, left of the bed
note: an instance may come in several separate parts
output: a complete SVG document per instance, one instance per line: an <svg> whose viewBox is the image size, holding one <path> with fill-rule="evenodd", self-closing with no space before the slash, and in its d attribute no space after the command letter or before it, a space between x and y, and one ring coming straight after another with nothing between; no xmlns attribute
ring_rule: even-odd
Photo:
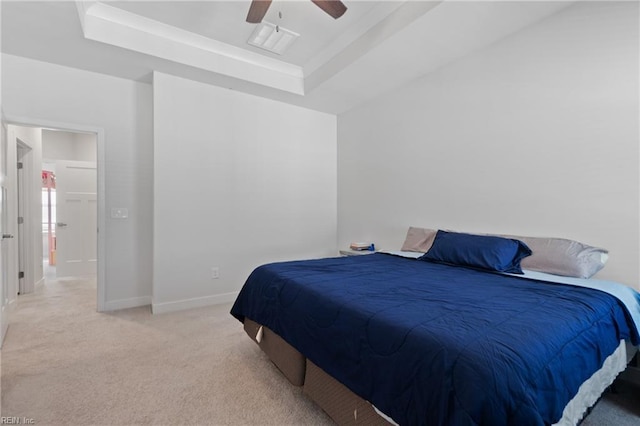
<svg viewBox="0 0 640 426"><path fill-rule="evenodd" d="M337 255L335 116L161 73L153 86L154 312L231 301L265 262Z"/></svg>

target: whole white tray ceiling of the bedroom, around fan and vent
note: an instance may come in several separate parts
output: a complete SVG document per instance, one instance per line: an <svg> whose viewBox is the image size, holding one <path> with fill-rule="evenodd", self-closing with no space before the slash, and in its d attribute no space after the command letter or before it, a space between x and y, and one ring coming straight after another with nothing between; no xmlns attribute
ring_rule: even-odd
<svg viewBox="0 0 640 426"><path fill-rule="evenodd" d="M2 51L138 81L157 70L340 113L572 3L343 1L334 20L309 0L274 0L265 19L301 35L282 56L246 43L248 0L3 1Z"/></svg>

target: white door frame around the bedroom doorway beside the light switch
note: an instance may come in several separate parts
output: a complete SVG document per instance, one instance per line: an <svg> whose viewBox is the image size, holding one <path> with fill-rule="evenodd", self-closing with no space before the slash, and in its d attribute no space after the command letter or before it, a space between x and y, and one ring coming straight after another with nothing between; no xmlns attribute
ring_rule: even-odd
<svg viewBox="0 0 640 426"><path fill-rule="evenodd" d="M97 308L98 312L104 312L106 309L106 191L105 191L105 147L104 147L104 129L101 127L85 126L81 124L65 123L51 120L41 120L29 117L18 117L5 115L7 124L15 124L26 127L45 127L68 132L95 133L97 144L97 175L98 175L98 275L97 275ZM38 224L42 226L42 224ZM38 253L42 257L42 253ZM40 260L40 257L38 260ZM35 259L32 259L34 261Z"/></svg>

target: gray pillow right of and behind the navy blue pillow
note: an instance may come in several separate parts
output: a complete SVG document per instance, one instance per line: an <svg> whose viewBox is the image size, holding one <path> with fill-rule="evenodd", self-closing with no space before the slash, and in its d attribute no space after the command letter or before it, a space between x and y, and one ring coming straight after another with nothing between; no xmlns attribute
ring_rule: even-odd
<svg viewBox="0 0 640 426"><path fill-rule="evenodd" d="M522 259L522 269L565 277L591 278L604 268L608 250L564 238L519 237L510 235L531 249Z"/></svg>

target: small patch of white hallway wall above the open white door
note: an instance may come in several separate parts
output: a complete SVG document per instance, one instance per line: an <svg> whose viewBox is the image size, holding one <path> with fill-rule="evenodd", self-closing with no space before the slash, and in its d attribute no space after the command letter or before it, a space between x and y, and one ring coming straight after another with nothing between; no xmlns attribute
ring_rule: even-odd
<svg viewBox="0 0 640 426"><path fill-rule="evenodd" d="M96 135L90 133L42 130L42 158L96 162Z"/></svg>

